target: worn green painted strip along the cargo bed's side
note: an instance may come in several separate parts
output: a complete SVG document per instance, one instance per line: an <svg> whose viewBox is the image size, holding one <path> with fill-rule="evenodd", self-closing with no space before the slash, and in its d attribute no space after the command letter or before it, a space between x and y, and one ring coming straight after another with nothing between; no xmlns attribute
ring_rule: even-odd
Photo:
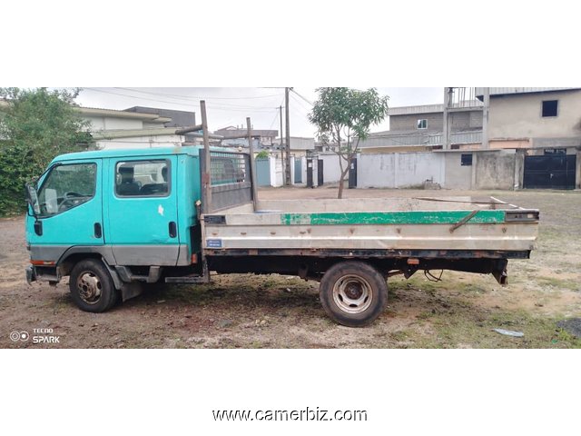
<svg viewBox="0 0 581 436"><path fill-rule="evenodd" d="M284 225L455 224L472 211L282 213ZM468 223L504 223L505 211L478 211Z"/></svg>

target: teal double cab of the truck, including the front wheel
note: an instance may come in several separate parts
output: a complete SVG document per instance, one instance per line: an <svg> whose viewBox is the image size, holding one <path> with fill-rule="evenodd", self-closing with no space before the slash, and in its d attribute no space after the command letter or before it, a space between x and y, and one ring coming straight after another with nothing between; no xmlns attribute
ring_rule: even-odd
<svg viewBox="0 0 581 436"><path fill-rule="evenodd" d="M28 281L55 284L70 275L74 301L86 311L103 312L114 304L113 295L127 300L140 292L139 282L157 282L164 270L202 272L200 149L55 158L28 185Z"/></svg>

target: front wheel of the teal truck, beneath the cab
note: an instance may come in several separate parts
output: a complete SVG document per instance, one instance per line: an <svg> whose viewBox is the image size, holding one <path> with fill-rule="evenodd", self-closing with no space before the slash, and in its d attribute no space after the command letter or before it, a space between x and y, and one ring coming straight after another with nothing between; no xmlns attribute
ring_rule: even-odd
<svg viewBox="0 0 581 436"><path fill-rule="evenodd" d="M85 259L74 265L69 288L74 303L84 312L106 312L117 302L113 279L96 259Z"/></svg>

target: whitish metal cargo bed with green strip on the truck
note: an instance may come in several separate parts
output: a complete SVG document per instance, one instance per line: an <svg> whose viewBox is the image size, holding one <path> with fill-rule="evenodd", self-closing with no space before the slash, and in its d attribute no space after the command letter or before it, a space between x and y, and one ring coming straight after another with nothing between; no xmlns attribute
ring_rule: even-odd
<svg viewBox="0 0 581 436"><path fill-rule="evenodd" d="M260 201L203 215L206 255L526 258L538 211L494 197Z"/></svg>

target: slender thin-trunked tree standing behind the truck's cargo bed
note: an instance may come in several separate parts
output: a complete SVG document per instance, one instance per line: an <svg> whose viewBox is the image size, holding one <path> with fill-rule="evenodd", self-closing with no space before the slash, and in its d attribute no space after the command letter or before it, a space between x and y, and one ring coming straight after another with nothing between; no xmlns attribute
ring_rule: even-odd
<svg viewBox="0 0 581 436"><path fill-rule="evenodd" d="M350 88L317 88L319 95L309 114L323 144L334 145L339 155L340 183L337 198L343 197L345 177L359 152L359 141L369 136L369 128L388 115L388 96L376 88L359 91Z"/></svg>

